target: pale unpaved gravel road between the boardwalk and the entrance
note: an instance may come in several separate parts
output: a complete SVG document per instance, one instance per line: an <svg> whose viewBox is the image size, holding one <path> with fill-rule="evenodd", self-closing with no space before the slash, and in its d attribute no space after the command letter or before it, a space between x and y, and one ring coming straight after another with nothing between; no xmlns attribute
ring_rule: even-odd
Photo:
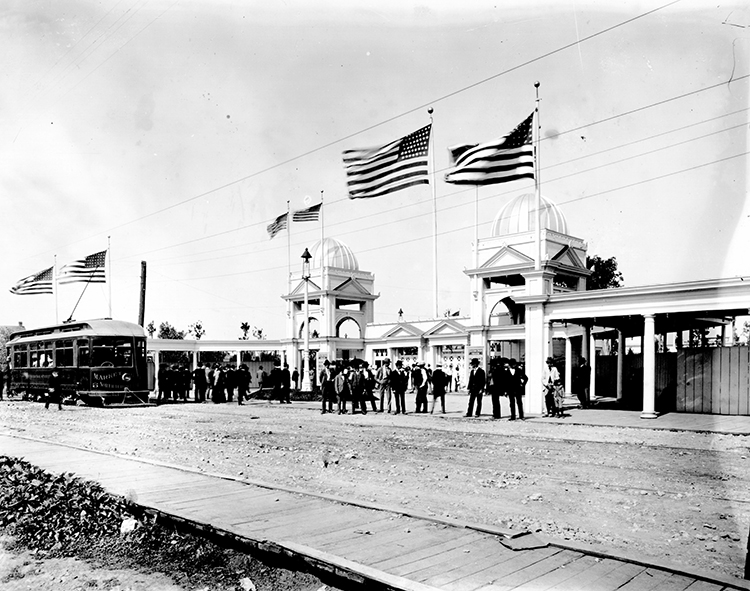
<svg viewBox="0 0 750 591"><path fill-rule="evenodd" d="M541 531L740 578L750 437L457 415L320 415L311 404L0 403L11 434Z"/></svg>

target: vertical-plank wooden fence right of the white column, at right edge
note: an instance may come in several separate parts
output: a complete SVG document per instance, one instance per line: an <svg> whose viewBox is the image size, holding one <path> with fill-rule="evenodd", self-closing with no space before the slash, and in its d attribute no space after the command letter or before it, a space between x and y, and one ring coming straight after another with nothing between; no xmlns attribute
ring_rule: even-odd
<svg viewBox="0 0 750 591"><path fill-rule="evenodd" d="M677 355L675 410L750 415L750 348L680 351Z"/></svg>

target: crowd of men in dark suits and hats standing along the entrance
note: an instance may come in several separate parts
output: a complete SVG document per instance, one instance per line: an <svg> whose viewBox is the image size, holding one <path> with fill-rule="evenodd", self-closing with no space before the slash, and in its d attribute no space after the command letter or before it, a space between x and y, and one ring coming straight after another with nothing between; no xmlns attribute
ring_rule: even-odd
<svg viewBox="0 0 750 591"><path fill-rule="evenodd" d="M492 418L501 419L501 398L506 397L510 406L509 420L524 420L523 396L529 378L523 363L513 358L493 359L489 371L480 367L474 358L470 363L466 389L468 407L465 417L478 417L482 414L482 399L489 394L492 401ZM434 413L438 407L445 413L445 395L455 387L459 389L458 372L449 367L443 369L437 364L430 365L417 361L407 366L397 360L385 359L374 370L367 361L336 360L324 362L317 376L317 386L321 395L321 413L352 414L368 412L407 414L407 392L414 395L414 413ZM291 394L299 390L300 373L295 368L289 371L287 363L276 363L270 372L260 366L255 380L246 364L232 367L226 364L213 366L199 364L192 372L184 366L163 365L159 369L159 392L157 404L167 400L187 401L194 391L196 402L233 402L243 404L250 397L251 387L255 386L254 397L264 395L281 404L291 403ZM588 389L590 368L585 359L573 371L576 391L580 392L581 408L589 405ZM547 359L547 367L542 377L545 405L544 416L561 416L565 396L560 372L554 360ZM431 399L431 400L430 400ZM428 410L429 408L429 410Z"/></svg>

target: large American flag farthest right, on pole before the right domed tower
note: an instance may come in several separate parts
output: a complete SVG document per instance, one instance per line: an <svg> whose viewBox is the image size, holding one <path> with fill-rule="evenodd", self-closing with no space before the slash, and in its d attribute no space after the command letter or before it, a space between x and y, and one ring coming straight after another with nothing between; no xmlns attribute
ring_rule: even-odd
<svg viewBox="0 0 750 591"><path fill-rule="evenodd" d="M484 144L462 144L448 148L454 169L446 183L492 185L534 178L534 150L531 145L534 113L509 134Z"/></svg>

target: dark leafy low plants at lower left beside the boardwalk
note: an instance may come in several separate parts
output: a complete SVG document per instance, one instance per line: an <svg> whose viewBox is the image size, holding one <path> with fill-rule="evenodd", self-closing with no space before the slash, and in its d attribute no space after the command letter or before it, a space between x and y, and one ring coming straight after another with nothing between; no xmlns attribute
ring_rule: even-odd
<svg viewBox="0 0 750 591"><path fill-rule="evenodd" d="M258 589L318 589L318 578L264 564L208 539L141 515L137 507L73 474L51 475L0 456L0 533L49 557L75 557L111 568L162 572L180 585L234 590L243 577ZM132 524L133 522L131 522Z"/></svg>

